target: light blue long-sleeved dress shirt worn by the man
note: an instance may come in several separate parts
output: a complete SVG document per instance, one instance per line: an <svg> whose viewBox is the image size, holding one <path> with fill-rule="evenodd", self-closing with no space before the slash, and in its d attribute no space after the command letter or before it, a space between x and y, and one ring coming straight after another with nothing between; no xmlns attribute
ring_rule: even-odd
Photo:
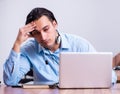
<svg viewBox="0 0 120 94"><path fill-rule="evenodd" d="M34 81L57 83L59 81L60 52L95 52L94 47L85 39L71 34L60 33L61 46L55 52L43 48L35 39L29 39L21 46L20 53L11 50L4 64L4 83L17 85L22 77L33 69ZM116 82L113 72L112 82Z"/></svg>

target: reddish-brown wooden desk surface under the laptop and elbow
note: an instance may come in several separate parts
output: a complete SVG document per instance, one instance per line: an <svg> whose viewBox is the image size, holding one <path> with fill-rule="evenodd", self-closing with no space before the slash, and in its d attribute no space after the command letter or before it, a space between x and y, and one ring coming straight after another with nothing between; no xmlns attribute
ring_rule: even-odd
<svg viewBox="0 0 120 94"><path fill-rule="evenodd" d="M1 85L0 94L120 94L120 83L110 89L23 89Z"/></svg>

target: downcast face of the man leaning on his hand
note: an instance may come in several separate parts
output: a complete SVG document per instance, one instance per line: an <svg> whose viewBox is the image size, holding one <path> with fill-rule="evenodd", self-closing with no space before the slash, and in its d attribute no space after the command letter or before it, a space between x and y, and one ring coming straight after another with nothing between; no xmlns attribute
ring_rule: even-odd
<svg viewBox="0 0 120 94"><path fill-rule="evenodd" d="M57 23L55 21L51 22L46 16L42 16L34 23L36 24L36 31L33 31L33 37L45 48L54 47Z"/></svg>

